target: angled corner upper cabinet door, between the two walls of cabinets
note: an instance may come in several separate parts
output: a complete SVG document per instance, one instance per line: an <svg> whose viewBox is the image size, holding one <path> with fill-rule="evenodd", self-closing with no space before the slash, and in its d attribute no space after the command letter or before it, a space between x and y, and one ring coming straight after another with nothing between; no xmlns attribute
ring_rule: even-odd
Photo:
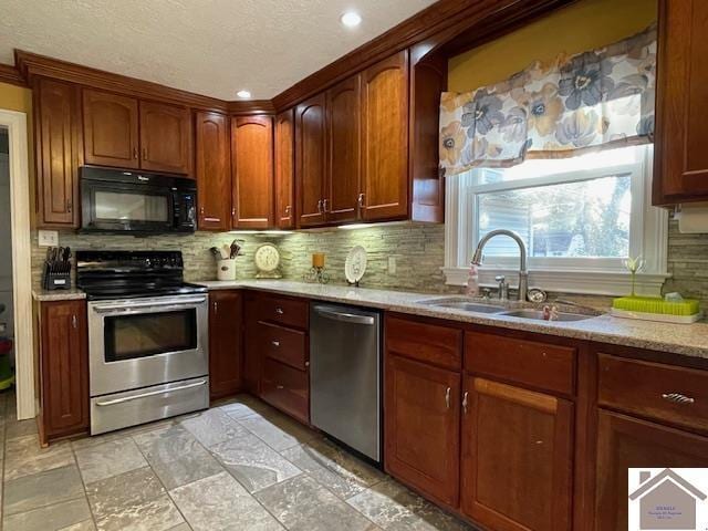
<svg viewBox="0 0 708 531"><path fill-rule="evenodd" d="M231 121L233 168L233 228L273 226L273 118Z"/></svg>

